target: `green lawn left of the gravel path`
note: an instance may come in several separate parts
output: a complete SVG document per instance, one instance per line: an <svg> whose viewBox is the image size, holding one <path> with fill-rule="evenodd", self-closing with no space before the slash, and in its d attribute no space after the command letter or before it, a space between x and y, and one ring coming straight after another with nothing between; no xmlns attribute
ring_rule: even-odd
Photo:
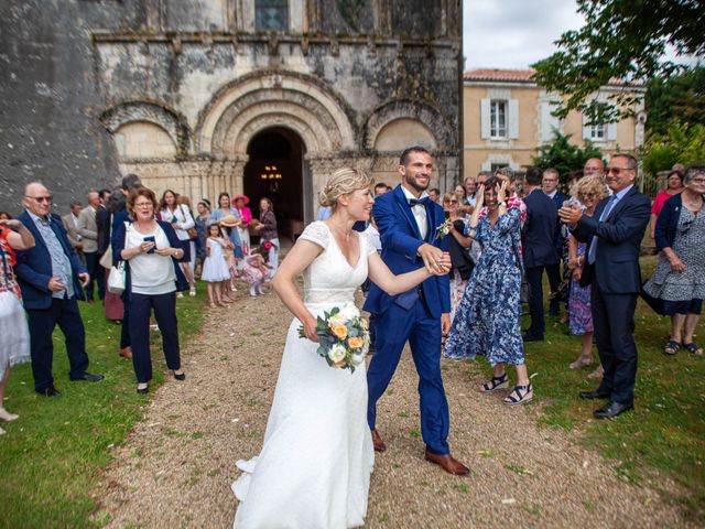
<svg viewBox="0 0 705 529"><path fill-rule="evenodd" d="M178 300L178 328L184 339L197 332L206 287ZM29 364L15 367L6 406L20 419L2 423L0 435L0 527L86 527L96 505L90 493L109 462L109 447L122 443L143 417L149 397L138 396L132 363L118 356L120 326L102 316L102 304L80 303L90 358L88 370L100 382L70 382L61 332L54 335L54 379L58 398L34 392ZM161 342L160 342L161 343ZM166 370L161 348L152 352L154 380Z"/></svg>

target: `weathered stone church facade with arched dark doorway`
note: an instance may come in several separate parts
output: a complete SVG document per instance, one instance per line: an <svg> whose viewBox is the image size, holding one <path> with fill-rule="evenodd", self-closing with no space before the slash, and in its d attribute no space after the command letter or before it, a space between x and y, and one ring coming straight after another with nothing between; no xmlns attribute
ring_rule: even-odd
<svg viewBox="0 0 705 529"><path fill-rule="evenodd" d="M459 0L10 0L0 14L0 209L31 180L64 210L137 173L158 194L269 196L307 223L333 170L395 183L409 144L434 152L433 185L459 176Z"/></svg>

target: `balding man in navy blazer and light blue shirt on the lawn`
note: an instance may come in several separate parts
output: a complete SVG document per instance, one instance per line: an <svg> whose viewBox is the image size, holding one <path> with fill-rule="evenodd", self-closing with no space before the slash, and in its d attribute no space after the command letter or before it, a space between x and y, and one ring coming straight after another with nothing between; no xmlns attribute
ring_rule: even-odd
<svg viewBox="0 0 705 529"><path fill-rule="evenodd" d="M24 207L26 209L18 220L30 230L36 245L17 252L14 271L29 316L34 390L46 397L57 397L59 392L52 376L52 335L56 324L66 338L70 380L98 381L104 378L86 371L86 332L77 299L84 298L82 282L88 284L89 277L70 246L59 217L51 214L48 190L40 183L28 184Z"/></svg>

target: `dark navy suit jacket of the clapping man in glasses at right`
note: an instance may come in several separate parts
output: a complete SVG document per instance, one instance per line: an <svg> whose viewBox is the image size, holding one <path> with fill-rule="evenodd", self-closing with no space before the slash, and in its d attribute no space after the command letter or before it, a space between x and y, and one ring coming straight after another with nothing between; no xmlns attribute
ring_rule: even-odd
<svg viewBox="0 0 705 529"><path fill-rule="evenodd" d="M587 244L588 251L593 237L597 237L595 263L589 264L585 259L581 285L597 282L606 294L638 294L641 291L639 252L651 202L632 187L600 223L607 201L600 201L594 216L583 215L573 229L577 240Z"/></svg>

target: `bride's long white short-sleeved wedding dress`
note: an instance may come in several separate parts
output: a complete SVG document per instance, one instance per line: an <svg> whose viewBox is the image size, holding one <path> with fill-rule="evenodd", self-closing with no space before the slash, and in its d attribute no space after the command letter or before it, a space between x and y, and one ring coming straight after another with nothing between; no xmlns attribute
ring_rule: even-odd
<svg viewBox="0 0 705 529"><path fill-rule="evenodd" d="M375 248L357 234L350 266L322 222L301 235L324 251L304 271L304 303L314 315L354 303ZM367 424L365 363L354 374L328 367L317 344L289 327L274 401L258 457L238 461L237 529L343 529L365 523L375 451Z"/></svg>

